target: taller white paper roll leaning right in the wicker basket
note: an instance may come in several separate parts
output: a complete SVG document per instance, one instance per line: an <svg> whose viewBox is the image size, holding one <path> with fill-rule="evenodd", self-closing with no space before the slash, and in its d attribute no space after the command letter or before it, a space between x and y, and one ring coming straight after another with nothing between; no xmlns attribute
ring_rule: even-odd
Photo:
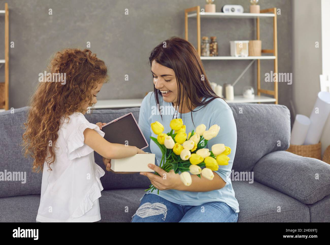
<svg viewBox="0 0 330 245"><path fill-rule="evenodd" d="M310 116L311 125L306 135L305 145L314 145L320 141L324 124L329 114L330 93L325 91L319 92Z"/></svg>

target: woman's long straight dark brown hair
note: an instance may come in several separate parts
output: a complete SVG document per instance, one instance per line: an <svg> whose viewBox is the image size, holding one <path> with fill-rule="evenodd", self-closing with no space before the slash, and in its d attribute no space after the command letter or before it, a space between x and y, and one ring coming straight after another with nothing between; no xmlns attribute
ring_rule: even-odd
<svg viewBox="0 0 330 245"><path fill-rule="evenodd" d="M171 37L168 40L162 41L159 43L152 51L149 57L150 66L152 61L157 62L158 64L171 68L174 70L175 77L178 85L178 104L179 108L181 105L181 87L179 83L182 84L183 96L185 98L185 104L188 106L188 109L191 111L191 120L193 110L188 103L188 98L191 101L193 106L206 106L212 100L216 98L221 98L215 94L212 90L209 80L205 74L205 70L201 59L194 48L194 46L179 37ZM202 79L202 77L204 79ZM157 105L159 105L158 95L161 95L161 92L155 88L153 85L153 92ZM162 96L162 95L161 95ZM199 97L212 97L208 101L200 101ZM204 108L204 106L202 108ZM200 108L200 109L202 109ZM199 110L200 110L199 109ZM158 107L161 118L163 119L161 112ZM198 110L197 110L198 111ZM177 115L177 114L176 114ZM174 115L173 115L174 118ZM182 118L182 115L181 115Z"/></svg>

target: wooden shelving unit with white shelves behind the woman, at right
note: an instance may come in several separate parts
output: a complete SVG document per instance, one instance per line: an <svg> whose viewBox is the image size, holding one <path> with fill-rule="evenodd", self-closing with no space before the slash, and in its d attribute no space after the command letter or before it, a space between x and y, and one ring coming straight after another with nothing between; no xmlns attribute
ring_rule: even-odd
<svg viewBox="0 0 330 245"><path fill-rule="evenodd" d="M278 74L278 54L277 54L277 8L260 10L260 14L253 13L209 13L201 12L200 6L192 7L184 10L185 24L185 40L188 41L188 18L197 18L197 52L201 60L257 60L257 95L254 100L246 100L243 96L234 96L234 100L226 100L227 102L275 102L278 104L278 76L275 76L274 90L261 89L260 86L260 60L274 60L274 74ZM191 13L195 12L195 13ZM191 13L191 14L189 14ZM248 57L233 57L233 56L201 56L201 18L255 18L257 20L257 40L260 40L260 18L273 18L273 49L262 49L261 53L272 54L264 56L248 56ZM271 95L262 96L261 94ZM244 101L243 101L243 100ZM249 103L248 102L248 103Z"/></svg>

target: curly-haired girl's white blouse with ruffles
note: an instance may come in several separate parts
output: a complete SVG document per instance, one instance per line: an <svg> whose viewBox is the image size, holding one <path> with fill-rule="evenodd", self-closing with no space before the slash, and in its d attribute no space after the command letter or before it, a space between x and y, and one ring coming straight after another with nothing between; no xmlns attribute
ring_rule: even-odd
<svg viewBox="0 0 330 245"><path fill-rule="evenodd" d="M98 198L104 170L95 163L94 150L84 144L83 131L99 126L80 112L62 118L55 144L55 162L48 170L44 163L41 198L36 220L39 222L95 222L101 219Z"/></svg>

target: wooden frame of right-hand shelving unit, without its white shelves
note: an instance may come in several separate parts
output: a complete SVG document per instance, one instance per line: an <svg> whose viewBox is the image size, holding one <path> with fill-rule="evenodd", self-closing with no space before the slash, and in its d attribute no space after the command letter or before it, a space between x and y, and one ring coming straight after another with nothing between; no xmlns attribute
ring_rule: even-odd
<svg viewBox="0 0 330 245"><path fill-rule="evenodd" d="M196 14L188 14L190 12L196 12ZM267 14L271 13L271 14ZM265 15L263 15L265 14ZM188 16L189 15L189 16ZM188 41L188 17L196 17L197 19L197 52L201 57L201 16L204 15L200 12L200 6L192 7L189 9L184 10L184 33L185 33L185 40ZM256 18L257 20L257 40L260 40L260 17L268 17L273 18L273 49L262 49L261 53L273 54L275 58L271 58L274 60L274 74L275 74L275 82L274 82L274 90L266 90L261 89L260 86L260 59L257 60L257 95L266 94L271 95L275 99L275 104L278 104L278 46L277 46L277 8L269 8L260 10L260 14L253 14L253 16L249 13L242 13L236 14L233 16L228 16L225 14L214 13L214 14L207 14L208 17L232 17L232 18ZM213 58L213 59L203 59L202 60L227 60L229 58ZM252 59L252 58L251 58ZM262 58L267 59L267 58ZM233 59L234 60L234 59ZM236 59L235 59L236 60ZM240 60L240 59L239 59ZM260 103L260 102L258 102Z"/></svg>

